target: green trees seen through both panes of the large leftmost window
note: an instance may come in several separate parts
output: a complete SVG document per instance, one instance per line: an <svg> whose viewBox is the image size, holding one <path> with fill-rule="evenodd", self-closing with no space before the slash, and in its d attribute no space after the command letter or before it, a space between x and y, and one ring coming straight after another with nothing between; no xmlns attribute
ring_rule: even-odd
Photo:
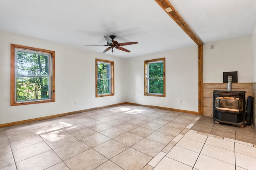
<svg viewBox="0 0 256 170"><path fill-rule="evenodd" d="M49 99L47 55L17 51L16 100Z"/></svg>

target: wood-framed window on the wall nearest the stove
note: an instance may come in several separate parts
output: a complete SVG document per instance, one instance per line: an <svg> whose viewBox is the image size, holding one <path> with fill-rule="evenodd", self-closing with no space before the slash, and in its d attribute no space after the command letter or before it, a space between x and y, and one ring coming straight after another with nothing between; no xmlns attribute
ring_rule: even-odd
<svg viewBox="0 0 256 170"><path fill-rule="evenodd" d="M165 97L165 58L144 61L144 95Z"/></svg>

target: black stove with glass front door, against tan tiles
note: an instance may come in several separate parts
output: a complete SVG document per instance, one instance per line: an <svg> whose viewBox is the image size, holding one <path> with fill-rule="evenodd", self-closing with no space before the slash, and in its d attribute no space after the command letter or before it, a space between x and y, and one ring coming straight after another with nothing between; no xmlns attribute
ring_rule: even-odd
<svg viewBox="0 0 256 170"><path fill-rule="evenodd" d="M245 91L213 91L213 118L215 121L239 123L245 117Z"/></svg>

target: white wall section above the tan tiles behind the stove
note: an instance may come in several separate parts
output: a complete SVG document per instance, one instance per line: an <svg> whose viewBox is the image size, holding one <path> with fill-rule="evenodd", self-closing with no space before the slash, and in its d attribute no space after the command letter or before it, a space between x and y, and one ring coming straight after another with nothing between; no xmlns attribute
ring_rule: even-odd
<svg viewBox="0 0 256 170"><path fill-rule="evenodd" d="M213 49L210 49L213 45ZM222 83L223 72L237 71L239 82L252 82L251 36L204 44L204 83Z"/></svg>

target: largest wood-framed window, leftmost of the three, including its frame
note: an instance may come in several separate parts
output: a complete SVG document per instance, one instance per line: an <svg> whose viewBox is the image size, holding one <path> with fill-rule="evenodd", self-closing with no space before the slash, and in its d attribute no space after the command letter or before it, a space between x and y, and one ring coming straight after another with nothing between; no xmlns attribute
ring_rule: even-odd
<svg viewBox="0 0 256 170"><path fill-rule="evenodd" d="M55 101L55 52L11 44L11 106Z"/></svg>

